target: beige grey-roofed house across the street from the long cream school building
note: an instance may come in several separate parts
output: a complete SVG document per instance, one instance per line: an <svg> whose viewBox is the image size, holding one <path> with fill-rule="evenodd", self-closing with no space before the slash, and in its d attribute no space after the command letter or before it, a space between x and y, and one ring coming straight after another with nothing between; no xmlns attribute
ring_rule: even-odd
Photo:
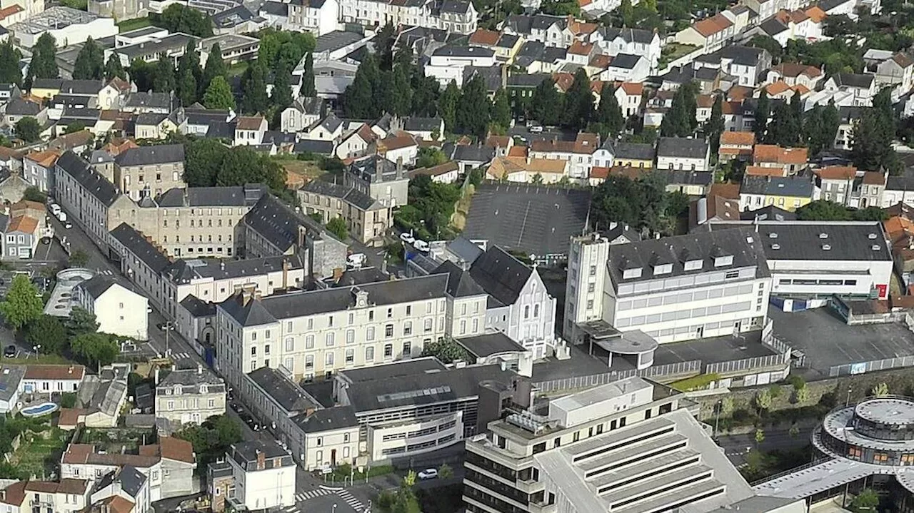
<svg viewBox="0 0 914 513"><path fill-rule="evenodd" d="M225 382L202 364L175 369L155 384L155 418L167 420L174 430L225 413Z"/></svg>

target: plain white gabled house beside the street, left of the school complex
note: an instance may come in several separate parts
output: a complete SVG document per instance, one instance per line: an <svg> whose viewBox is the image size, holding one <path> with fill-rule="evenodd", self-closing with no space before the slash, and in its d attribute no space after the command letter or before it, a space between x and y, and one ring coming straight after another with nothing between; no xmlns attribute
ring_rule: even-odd
<svg viewBox="0 0 914 513"><path fill-rule="evenodd" d="M149 339L148 298L102 275L81 282L76 289L80 306L95 315L101 333Z"/></svg>

